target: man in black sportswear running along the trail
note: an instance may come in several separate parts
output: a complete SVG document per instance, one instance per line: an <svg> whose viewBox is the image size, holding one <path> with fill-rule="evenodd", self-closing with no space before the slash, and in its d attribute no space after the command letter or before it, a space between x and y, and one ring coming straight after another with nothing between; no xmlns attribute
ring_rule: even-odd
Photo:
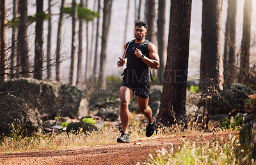
<svg viewBox="0 0 256 165"><path fill-rule="evenodd" d="M159 56L156 46L149 40L145 40L147 29L148 26L145 22L136 22L135 39L125 43L124 57L119 58L119 61L117 61L118 68L127 64L122 74L124 77L120 87L120 118L123 132L120 138L117 138L118 143L130 142L128 134L128 104L134 93L141 113L148 120L146 136L150 137L154 134L156 118L152 117L152 111L148 107L150 91L149 70L150 68L159 68Z"/></svg>

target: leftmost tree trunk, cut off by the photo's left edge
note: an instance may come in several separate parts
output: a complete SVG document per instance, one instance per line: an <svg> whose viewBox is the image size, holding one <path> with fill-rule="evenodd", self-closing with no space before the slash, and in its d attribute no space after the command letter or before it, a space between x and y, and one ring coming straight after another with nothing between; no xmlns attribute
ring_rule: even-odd
<svg viewBox="0 0 256 165"><path fill-rule="evenodd" d="M7 40L6 40L6 30L7 30L7 2L2 0L0 4L1 8L1 35L0 35L0 44L1 44L1 54L0 54L0 87L4 81L7 79Z"/></svg>

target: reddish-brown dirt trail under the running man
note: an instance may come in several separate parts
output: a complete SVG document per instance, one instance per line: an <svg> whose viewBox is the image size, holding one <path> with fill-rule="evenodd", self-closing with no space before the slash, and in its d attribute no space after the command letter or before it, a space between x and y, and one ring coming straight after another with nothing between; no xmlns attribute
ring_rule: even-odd
<svg viewBox="0 0 256 165"><path fill-rule="evenodd" d="M227 138L237 132L217 132L218 138ZM148 154L161 148L180 145L180 138L196 141L198 135L170 136L168 138L148 138L131 143L115 143L103 146L84 146L70 150L48 150L40 152L0 153L0 164L136 164L148 160ZM206 141L215 136L204 134Z"/></svg>

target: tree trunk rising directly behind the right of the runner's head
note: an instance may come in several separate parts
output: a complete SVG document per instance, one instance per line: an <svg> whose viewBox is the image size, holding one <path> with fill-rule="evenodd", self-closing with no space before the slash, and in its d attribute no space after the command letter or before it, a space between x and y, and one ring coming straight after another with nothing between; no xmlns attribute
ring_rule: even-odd
<svg viewBox="0 0 256 165"><path fill-rule="evenodd" d="M148 33L145 36L146 39L152 40L154 42L154 29L155 29L155 17L156 17L156 10L155 10L156 0L146 0L145 4L145 22L148 24Z"/></svg>

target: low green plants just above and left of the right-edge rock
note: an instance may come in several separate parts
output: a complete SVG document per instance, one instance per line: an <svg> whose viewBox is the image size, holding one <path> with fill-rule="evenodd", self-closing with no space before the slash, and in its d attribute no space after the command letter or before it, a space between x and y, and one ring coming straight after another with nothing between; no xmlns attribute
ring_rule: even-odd
<svg viewBox="0 0 256 165"><path fill-rule="evenodd" d="M219 127L223 129L237 130L240 129L240 126L243 124L243 115L236 116L235 118L231 116L230 118L223 118L220 121Z"/></svg>

